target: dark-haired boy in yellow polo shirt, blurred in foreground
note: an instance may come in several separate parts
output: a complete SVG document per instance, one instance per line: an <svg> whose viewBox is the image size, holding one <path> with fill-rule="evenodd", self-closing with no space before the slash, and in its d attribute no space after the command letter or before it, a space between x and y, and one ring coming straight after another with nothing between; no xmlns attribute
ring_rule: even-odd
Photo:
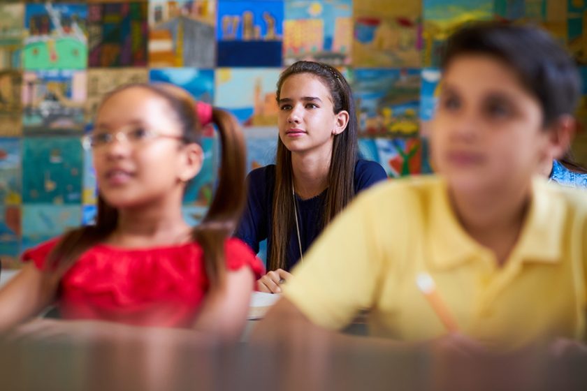
<svg viewBox="0 0 587 391"><path fill-rule="evenodd" d="M516 348L585 337L587 199L534 173L574 131L579 75L535 27L479 24L449 38L430 149L437 177L359 196L314 244L258 335L296 321L370 333L447 334L416 285L425 272L472 341ZM284 335L283 337L287 337Z"/></svg>

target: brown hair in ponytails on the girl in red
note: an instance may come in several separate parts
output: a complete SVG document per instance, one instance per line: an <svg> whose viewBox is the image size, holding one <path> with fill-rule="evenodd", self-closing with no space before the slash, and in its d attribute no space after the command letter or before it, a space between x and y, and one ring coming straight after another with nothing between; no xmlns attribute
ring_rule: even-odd
<svg viewBox="0 0 587 391"><path fill-rule="evenodd" d="M129 84L111 92L108 99L129 88L143 88L164 98L182 127L184 142L201 143L202 126L196 115L196 103L189 94L173 84ZM245 204L245 141L235 118L224 110L212 109L212 121L217 126L222 143L219 182L214 199L203 221L191 232L191 237L203 248L205 271L211 286L224 279L224 241L233 232ZM61 276L82 253L103 242L118 223L117 209L99 195L96 223L65 233L48 256L48 266Z"/></svg>

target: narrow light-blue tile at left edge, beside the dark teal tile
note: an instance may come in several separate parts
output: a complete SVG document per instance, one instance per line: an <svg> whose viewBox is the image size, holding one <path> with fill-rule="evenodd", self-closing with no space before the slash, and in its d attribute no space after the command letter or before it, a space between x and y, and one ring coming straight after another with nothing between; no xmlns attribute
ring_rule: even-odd
<svg viewBox="0 0 587 391"><path fill-rule="evenodd" d="M0 138L0 204L20 204L20 138Z"/></svg>

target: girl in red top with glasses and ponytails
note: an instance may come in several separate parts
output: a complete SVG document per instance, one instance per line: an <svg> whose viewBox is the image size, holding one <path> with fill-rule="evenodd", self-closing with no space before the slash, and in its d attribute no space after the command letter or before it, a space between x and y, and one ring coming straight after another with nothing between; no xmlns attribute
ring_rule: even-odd
<svg viewBox="0 0 587 391"><path fill-rule="evenodd" d="M263 273L252 251L229 239L245 200L245 147L231 115L210 107L196 115L195 107L171 84L132 84L104 99L85 140L99 188L96 224L24 253L22 271L0 290L0 331L57 304L65 320L20 329L69 333L80 330L72 325L89 330L100 322L93 329L101 333L124 323L240 336ZM201 169L201 128L209 119L222 140L221 172L208 214L194 228L182 218L182 196Z"/></svg>

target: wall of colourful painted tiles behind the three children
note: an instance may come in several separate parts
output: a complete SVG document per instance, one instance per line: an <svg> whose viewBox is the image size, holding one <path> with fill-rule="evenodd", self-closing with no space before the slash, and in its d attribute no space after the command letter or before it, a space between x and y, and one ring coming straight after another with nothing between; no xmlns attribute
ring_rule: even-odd
<svg viewBox="0 0 587 391"><path fill-rule="evenodd" d="M94 221L96 175L81 137L103 96L133 82L177 84L229 110L242 124L252 170L275 159L280 72L300 59L323 61L352 86L361 155L390 177L430 172L423 136L440 88L442 43L475 20L541 24L587 65L584 0L3 1L3 266L18 267L25 249ZM587 98L579 119L587 119ZM219 161L214 129L204 133L205 163L184 196L193 224L212 199ZM587 137L577 146L587 151Z"/></svg>

